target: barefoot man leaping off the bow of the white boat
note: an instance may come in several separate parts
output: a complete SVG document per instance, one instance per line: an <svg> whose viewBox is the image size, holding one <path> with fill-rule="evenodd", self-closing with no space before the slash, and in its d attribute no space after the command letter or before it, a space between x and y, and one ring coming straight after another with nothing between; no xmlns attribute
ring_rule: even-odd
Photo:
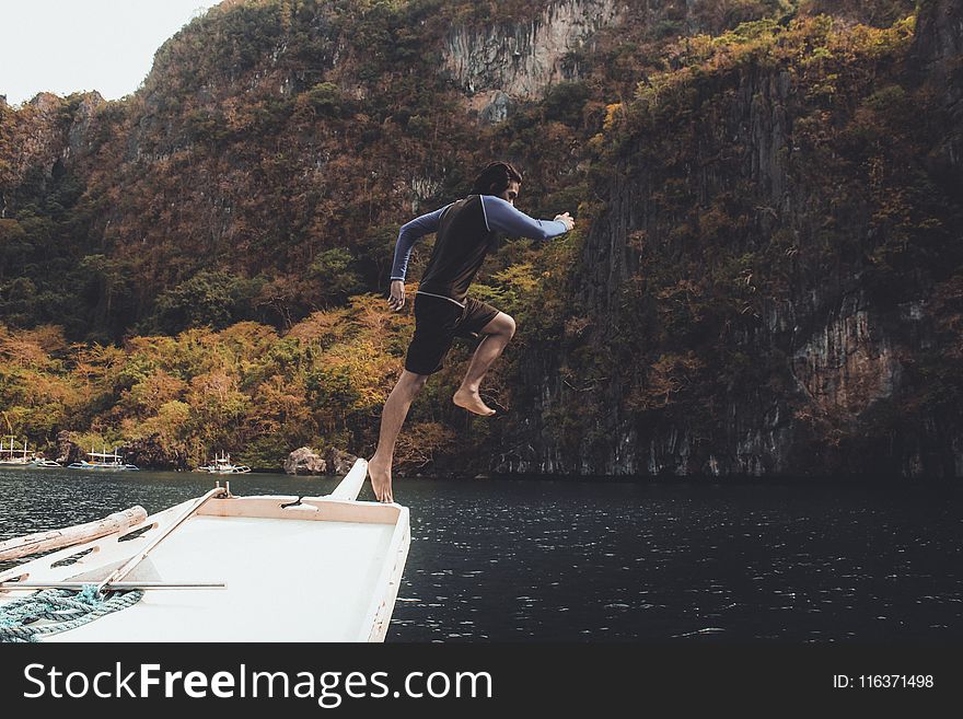
<svg viewBox="0 0 963 719"><path fill-rule="evenodd" d="M534 220L514 208L522 175L507 162L492 162L475 178L471 194L402 227L395 245L391 276L392 310L405 306L405 275L415 243L438 233L428 268L415 297L415 337L408 346L405 369L381 414L378 449L368 462L371 487L380 501L392 497L395 441L415 395L442 361L455 337L481 335L465 379L452 397L459 407L489 417L495 410L478 394L481 379L501 355L515 322L503 312L468 297L468 286L485 256L501 235L547 240L572 229L568 212L554 220Z"/></svg>

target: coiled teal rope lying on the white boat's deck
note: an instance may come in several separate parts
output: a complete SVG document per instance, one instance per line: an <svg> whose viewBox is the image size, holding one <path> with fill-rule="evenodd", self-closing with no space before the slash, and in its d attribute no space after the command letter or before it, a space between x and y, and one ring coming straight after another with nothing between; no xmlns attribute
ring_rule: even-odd
<svg viewBox="0 0 963 719"><path fill-rule="evenodd" d="M86 584L79 592L44 589L0 604L0 642L39 641L45 636L76 629L105 614L134 606L143 596L142 589L109 592L106 598L96 590L96 584ZM47 622L38 624L42 619Z"/></svg>

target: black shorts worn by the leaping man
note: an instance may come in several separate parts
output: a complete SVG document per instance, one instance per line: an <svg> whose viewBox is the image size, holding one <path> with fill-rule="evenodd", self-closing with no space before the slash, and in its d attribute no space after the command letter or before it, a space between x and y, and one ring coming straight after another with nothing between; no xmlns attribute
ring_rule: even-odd
<svg viewBox="0 0 963 719"><path fill-rule="evenodd" d="M462 308L453 300L431 294L415 295L415 337L408 345L405 369L415 374L434 374L455 337L476 337L495 318L498 310L472 298Z"/></svg>

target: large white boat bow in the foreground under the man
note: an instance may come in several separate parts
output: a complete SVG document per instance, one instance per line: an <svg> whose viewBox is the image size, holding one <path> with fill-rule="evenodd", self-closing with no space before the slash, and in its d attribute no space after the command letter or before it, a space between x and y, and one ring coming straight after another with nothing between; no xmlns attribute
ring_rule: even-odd
<svg viewBox="0 0 963 719"><path fill-rule="evenodd" d="M357 501L367 472L358 460L324 497L235 497L218 486L21 564L0 572L0 619L24 598L43 599L28 592L98 596L100 587L130 605L58 634L43 634L48 619L26 630L50 642L383 641L410 530L407 508Z"/></svg>

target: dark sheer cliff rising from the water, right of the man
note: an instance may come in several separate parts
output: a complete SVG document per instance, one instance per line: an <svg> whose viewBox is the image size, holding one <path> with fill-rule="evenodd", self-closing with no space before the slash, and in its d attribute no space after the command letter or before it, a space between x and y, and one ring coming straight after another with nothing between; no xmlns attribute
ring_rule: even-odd
<svg viewBox="0 0 963 719"><path fill-rule="evenodd" d="M959 476L960 408L932 401L926 368L945 337L933 298L959 271L959 185L941 167L959 167L961 7L925 4L912 47L854 58L832 106L805 58L778 53L643 93L573 280L589 328L526 357L534 411L497 465ZM867 144L869 113L905 123L914 103L938 132L901 128L905 154ZM927 240L886 217L919 192L901 173L939 196L914 208L940 228ZM894 275L891 253L913 271Z"/></svg>

